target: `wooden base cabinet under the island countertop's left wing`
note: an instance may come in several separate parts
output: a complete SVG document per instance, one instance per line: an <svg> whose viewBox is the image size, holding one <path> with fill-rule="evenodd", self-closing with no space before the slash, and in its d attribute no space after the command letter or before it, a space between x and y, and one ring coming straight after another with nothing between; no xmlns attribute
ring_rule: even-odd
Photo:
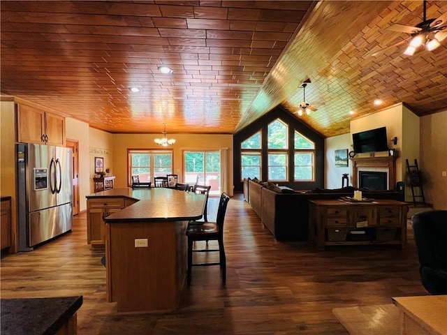
<svg viewBox="0 0 447 335"><path fill-rule="evenodd" d="M104 246L105 223L103 218L136 201L129 198L110 197L87 199L87 244Z"/></svg>

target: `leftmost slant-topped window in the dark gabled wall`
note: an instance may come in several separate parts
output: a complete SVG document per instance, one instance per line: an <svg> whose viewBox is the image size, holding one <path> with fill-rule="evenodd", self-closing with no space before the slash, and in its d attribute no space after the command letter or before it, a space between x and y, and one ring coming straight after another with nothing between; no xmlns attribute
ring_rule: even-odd
<svg viewBox="0 0 447 335"><path fill-rule="evenodd" d="M240 144L241 180L257 177L261 179L261 131Z"/></svg>

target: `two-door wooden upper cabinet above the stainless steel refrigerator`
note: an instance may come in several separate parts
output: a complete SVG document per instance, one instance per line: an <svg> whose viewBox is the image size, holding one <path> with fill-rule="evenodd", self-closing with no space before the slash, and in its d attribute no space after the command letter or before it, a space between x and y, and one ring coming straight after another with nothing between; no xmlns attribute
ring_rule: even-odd
<svg viewBox="0 0 447 335"><path fill-rule="evenodd" d="M18 105L18 140L65 146L65 118L28 105Z"/></svg>

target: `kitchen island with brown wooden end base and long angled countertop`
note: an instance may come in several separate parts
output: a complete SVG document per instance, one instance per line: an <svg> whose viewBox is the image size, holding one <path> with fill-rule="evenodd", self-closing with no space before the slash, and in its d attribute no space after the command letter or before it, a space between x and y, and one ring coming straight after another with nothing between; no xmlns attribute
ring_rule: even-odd
<svg viewBox="0 0 447 335"><path fill-rule="evenodd" d="M108 301L117 311L175 311L186 276L186 226L202 217L205 195L170 188L114 188L87 200L135 200L106 216ZM138 201L137 201L138 200Z"/></svg>

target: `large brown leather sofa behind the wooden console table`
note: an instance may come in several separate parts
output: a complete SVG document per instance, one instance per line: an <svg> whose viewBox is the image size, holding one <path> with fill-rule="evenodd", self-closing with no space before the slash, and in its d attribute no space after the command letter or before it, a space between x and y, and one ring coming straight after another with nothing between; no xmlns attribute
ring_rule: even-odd
<svg viewBox="0 0 447 335"><path fill-rule="evenodd" d="M309 200L338 199L352 197L358 188L347 186L338 189L294 191L286 187L274 187L271 183L260 184L244 179L244 198L263 225L278 241L306 240L308 237ZM396 191L362 190L367 198L400 200L402 194Z"/></svg>

